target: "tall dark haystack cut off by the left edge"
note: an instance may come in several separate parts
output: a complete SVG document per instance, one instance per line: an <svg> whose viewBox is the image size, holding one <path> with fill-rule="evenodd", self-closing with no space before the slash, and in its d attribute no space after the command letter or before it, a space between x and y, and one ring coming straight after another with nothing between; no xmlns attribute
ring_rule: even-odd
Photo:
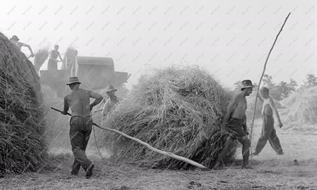
<svg viewBox="0 0 317 190"><path fill-rule="evenodd" d="M45 164L44 105L33 64L0 33L0 175Z"/></svg>

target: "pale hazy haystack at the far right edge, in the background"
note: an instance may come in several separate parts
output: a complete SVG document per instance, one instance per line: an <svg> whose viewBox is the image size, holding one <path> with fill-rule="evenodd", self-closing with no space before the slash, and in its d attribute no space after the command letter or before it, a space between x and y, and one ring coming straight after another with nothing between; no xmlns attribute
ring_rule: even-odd
<svg viewBox="0 0 317 190"><path fill-rule="evenodd" d="M287 118L298 124L317 123L317 86L301 90L289 107Z"/></svg>

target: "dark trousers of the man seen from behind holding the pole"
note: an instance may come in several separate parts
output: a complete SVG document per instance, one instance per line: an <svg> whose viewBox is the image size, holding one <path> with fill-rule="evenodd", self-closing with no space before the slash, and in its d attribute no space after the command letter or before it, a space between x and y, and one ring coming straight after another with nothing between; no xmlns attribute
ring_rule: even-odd
<svg viewBox="0 0 317 190"><path fill-rule="evenodd" d="M70 144L75 157L71 173L78 173L80 166L86 169L91 163L85 153L92 128L92 119L88 117L73 116L70 118Z"/></svg>

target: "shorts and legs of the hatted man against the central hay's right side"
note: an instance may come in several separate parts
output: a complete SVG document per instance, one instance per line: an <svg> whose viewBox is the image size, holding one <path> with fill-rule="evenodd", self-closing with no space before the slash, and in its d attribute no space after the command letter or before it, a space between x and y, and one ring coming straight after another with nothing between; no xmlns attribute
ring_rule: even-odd
<svg viewBox="0 0 317 190"><path fill-rule="evenodd" d="M248 165L251 142L249 138L247 138L247 135L244 131L242 120L230 118L227 122L227 127L234 133L227 138L225 145L220 151L216 162L214 162L214 167L217 167L219 162L223 161L226 158L226 155L234 150L233 140L235 139L242 143L243 166L245 167Z"/></svg>

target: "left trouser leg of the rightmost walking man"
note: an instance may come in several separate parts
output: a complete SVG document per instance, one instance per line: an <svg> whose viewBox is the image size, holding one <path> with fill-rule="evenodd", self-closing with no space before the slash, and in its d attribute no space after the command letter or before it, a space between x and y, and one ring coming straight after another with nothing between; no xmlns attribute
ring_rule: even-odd
<svg viewBox="0 0 317 190"><path fill-rule="evenodd" d="M255 152L253 153L253 155L258 155L262 151L262 149L264 148L268 140L268 137L271 134L271 131L272 131L271 121L267 121L267 116L263 116L261 137L258 140L258 143L255 147Z"/></svg>

